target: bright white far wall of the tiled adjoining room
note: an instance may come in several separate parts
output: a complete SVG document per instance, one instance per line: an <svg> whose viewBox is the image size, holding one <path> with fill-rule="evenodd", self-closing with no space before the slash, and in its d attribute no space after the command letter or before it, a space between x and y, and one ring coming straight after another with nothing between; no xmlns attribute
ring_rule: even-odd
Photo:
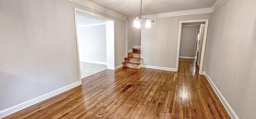
<svg viewBox="0 0 256 119"><path fill-rule="evenodd" d="M106 25L78 28L80 60L107 62Z"/></svg>

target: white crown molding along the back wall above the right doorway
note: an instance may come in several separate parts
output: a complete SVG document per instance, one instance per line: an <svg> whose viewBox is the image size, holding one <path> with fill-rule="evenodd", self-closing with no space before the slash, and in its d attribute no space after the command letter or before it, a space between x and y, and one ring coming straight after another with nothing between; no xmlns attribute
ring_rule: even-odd
<svg viewBox="0 0 256 119"><path fill-rule="evenodd" d="M173 16L184 16L184 15L193 15L193 14L213 13L225 1L226 0L217 0L212 5L212 7L210 7L210 8L202 8L202 9L194 9L194 10L183 10L183 11L176 11L176 12L165 12L165 13L158 13L158 14L142 15L142 18L165 18L165 17L173 17ZM129 18L134 18L134 17L129 17Z"/></svg>

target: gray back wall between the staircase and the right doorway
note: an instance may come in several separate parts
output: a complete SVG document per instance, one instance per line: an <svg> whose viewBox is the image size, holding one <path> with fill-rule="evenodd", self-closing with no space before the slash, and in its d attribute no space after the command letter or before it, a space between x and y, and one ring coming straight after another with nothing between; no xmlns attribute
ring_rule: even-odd
<svg viewBox="0 0 256 119"><path fill-rule="evenodd" d="M180 21L210 19L210 29L211 18L212 13L156 18L156 23L151 24L150 29L145 28L145 21L142 22L141 58L143 64L151 65L152 62L154 64L159 62L159 66L176 68Z"/></svg>

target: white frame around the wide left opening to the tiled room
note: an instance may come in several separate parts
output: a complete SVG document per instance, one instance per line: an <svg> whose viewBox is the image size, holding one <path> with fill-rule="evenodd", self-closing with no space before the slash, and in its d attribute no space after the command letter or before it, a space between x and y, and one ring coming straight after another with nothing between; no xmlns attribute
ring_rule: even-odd
<svg viewBox="0 0 256 119"><path fill-rule="evenodd" d="M97 16L100 18L104 18L106 20L110 20L110 21L106 21L106 29L108 29L110 34L106 35L106 44L107 44L107 68L111 69L111 70L115 70L115 35L114 35L114 31L115 31L115 20L110 19L110 18L106 18L104 16L100 16L98 14L94 14L88 11L84 11L78 8L74 8L74 18L75 18L75 30L76 30L76 50L77 50L77 58L78 58L78 72L79 72L79 80L81 81L81 70L80 70L80 57L79 57L79 44L78 44L78 33L77 33L77 23L76 23L76 11L79 12L84 12L86 14L90 14L93 16ZM107 28L107 25L111 25L113 27L109 27Z"/></svg>

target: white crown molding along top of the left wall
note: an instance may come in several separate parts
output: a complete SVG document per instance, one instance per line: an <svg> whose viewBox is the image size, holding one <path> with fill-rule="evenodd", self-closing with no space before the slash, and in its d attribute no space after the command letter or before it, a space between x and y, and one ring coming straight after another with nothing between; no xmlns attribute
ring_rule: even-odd
<svg viewBox="0 0 256 119"><path fill-rule="evenodd" d="M68 0L68 1L74 2L76 4L80 4L82 6L86 6L86 7L92 8L94 10L97 10L99 12L103 12L103 13L108 14L110 16L114 16L114 17L119 18L121 20L126 20L126 18L127 18L126 16L124 16L122 14L119 14L117 12L114 12L112 10L104 8L104 7L102 7L102 6L98 5L98 4L95 4L93 2L90 2L88 0Z"/></svg>

